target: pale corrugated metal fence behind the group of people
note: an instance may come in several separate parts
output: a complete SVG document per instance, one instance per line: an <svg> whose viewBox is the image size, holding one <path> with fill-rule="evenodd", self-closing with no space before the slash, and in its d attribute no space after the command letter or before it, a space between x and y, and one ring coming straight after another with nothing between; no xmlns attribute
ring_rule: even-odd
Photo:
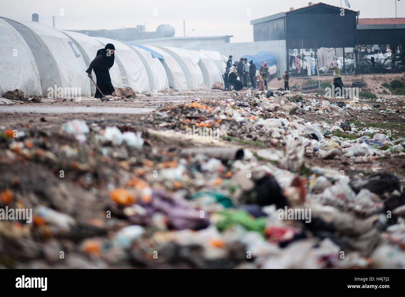
<svg viewBox="0 0 405 297"><path fill-rule="evenodd" d="M183 48L199 51L219 51L222 55L233 56L232 61L239 61L243 55L256 55L260 51L271 53L277 60L277 76L282 77L287 69L286 64L286 40L266 40L256 42L237 42L222 44L187 44Z"/></svg>

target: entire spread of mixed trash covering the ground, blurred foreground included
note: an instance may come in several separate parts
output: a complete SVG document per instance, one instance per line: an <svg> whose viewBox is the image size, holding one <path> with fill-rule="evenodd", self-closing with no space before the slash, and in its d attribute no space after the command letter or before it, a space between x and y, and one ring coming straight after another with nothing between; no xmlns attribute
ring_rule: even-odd
<svg viewBox="0 0 405 297"><path fill-rule="evenodd" d="M0 266L405 268L399 177L305 163L401 156L403 139L301 117L342 115L343 101L268 95L162 106L130 123L0 127ZM218 128L221 145L153 134L193 125Z"/></svg>

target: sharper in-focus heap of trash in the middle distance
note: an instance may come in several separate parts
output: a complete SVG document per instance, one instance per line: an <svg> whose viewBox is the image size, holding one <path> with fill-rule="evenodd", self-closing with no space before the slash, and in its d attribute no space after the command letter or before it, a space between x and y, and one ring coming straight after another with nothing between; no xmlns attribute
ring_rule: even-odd
<svg viewBox="0 0 405 297"><path fill-rule="evenodd" d="M362 104L357 98L330 103L329 100L322 100L325 97L316 95L277 93L270 97L263 92L256 96L234 93L228 98L214 101L197 99L188 104L162 107L142 120L148 127L179 132L191 126L217 128L223 139L237 137L260 141L271 150L278 148L277 156L272 159L278 160L280 156L289 154L298 156L299 166L303 163L303 154L323 159L347 158L356 163L405 155L405 138L394 139L387 136L390 133L388 129L357 127L344 120L348 111L368 111L379 105L372 107L367 103ZM385 99L377 101L386 104ZM307 113L319 119L335 120L329 124L323 121L321 125L305 120L302 116ZM347 137L344 133L347 133ZM287 152L288 142L290 147L295 148L294 151ZM299 147L303 149L302 154L298 154Z"/></svg>

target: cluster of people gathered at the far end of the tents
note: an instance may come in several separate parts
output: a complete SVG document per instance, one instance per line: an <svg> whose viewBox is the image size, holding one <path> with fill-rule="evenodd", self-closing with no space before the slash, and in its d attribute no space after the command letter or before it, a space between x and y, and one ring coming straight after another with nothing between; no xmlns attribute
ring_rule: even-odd
<svg viewBox="0 0 405 297"><path fill-rule="evenodd" d="M229 56L228 62L226 62L226 72L225 79L233 80L235 84L235 90L240 91L243 87L247 88L248 82L252 84L252 88L256 89L256 65L253 63L253 60L250 60L247 63L247 58L241 57L241 59L232 63L232 56ZM264 62L263 65L259 68L259 75L263 78L264 85L267 88L267 81L269 80L269 67L267 62ZM237 78L239 77L239 80Z"/></svg>

